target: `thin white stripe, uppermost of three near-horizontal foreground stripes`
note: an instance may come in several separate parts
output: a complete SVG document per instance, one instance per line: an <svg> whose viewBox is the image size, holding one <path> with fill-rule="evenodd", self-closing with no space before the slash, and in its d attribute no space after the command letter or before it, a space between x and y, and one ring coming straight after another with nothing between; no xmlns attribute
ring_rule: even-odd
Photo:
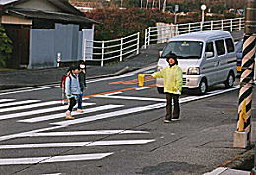
<svg viewBox="0 0 256 175"><path fill-rule="evenodd" d="M71 132L46 132L46 133L30 133L30 137L52 137L52 136L84 136L84 135L113 135L113 134L147 134L147 131L135 130L94 130L94 131L71 131ZM24 135L25 136L25 135Z"/></svg>

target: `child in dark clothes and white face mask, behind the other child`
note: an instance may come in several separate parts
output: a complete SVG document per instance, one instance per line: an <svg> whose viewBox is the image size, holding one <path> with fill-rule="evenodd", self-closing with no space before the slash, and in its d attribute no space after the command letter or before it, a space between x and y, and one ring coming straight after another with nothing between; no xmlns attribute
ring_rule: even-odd
<svg viewBox="0 0 256 175"><path fill-rule="evenodd" d="M77 109L77 112L83 113L84 111L82 110L82 97L83 97L84 88L87 87L87 85L86 85L86 64L85 64L85 61L83 61L83 60L79 61L79 68L80 68L80 72L78 74L78 79L79 79L79 86L80 86L81 94L78 95L78 109Z"/></svg>

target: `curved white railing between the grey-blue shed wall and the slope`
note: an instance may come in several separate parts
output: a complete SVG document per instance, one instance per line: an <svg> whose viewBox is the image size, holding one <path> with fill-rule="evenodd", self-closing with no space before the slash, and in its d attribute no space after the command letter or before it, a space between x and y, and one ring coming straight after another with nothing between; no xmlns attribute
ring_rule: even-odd
<svg viewBox="0 0 256 175"><path fill-rule="evenodd" d="M139 54L140 32L123 37L120 39L95 41L85 40L84 42L84 58L90 61L100 61L100 65L104 66L105 61L123 58L132 54ZM88 52L88 50L91 50Z"/></svg>

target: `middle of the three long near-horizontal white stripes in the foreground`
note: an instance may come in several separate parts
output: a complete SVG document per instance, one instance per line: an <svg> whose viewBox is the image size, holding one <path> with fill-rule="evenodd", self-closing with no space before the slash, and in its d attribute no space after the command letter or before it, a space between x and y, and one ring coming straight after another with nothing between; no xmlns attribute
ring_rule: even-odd
<svg viewBox="0 0 256 175"><path fill-rule="evenodd" d="M53 147L78 147L78 146L113 146L113 145L134 145L147 144L155 141L148 140L115 140L115 141L91 141L91 142L72 142L72 143L42 143L42 144L13 144L0 145L0 149L20 149L20 148L53 148Z"/></svg>

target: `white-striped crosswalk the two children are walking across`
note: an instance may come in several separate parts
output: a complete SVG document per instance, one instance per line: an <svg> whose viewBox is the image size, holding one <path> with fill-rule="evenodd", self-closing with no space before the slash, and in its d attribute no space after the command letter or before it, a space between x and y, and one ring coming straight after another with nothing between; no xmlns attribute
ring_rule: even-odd
<svg viewBox="0 0 256 175"><path fill-rule="evenodd" d="M149 100L149 99L145 99ZM85 107L84 113L79 113L74 111L72 115L76 118L75 120L65 120L65 110L67 105L63 106L61 101L40 101L40 100L16 100L16 99L0 99L0 124L1 122L6 122L11 120L13 125L15 124L38 124L45 123L50 125L48 128L39 128L27 132L21 132L11 135L0 136L0 149L2 152L8 154L11 150L23 150L17 152L26 152L34 149L49 149L56 148L62 151L63 148L76 148L76 147L87 147L87 146L129 146L129 145L145 145L155 141L153 138L146 137L148 135L147 131L140 130L127 130L127 129L111 129L111 130L79 130L79 131L67 131L65 128L69 125L82 124L87 122L93 122L97 120L103 120L107 118L138 113L147 110L153 110L163 107L165 104L160 103L160 101L152 105L138 106L134 108L127 108L123 104L101 104L84 102L83 107ZM109 111L110 110L110 111ZM86 114L86 115L85 115ZM92 115L93 114L93 115ZM26 128L26 127L25 127ZM58 129L58 131L56 131ZM87 140L83 136L102 137L109 135L125 135L125 139L119 140ZM133 139L133 136L136 137ZM49 142L52 140L45 141L45 138L57 138L72 136L72 138L77 137L84 139L82 141L61 141L54 140L55 142ZM40 138L44 138L44 142L38 143ZM30 138L28 140L21 140L19 144L13 144L12 139L19 138ZM86 141L85 141L86 140ZM4 144L1 143L4 141ZM25 142L27 141L27 142ZM59 142L56 142L59 141ZM63 150L64 151L64 150ZM45 156L36 156L36 154L16 154L15 157L2 157L0 158L0 166L8 165L31 165L31 164L41 164L41 163L56 163L56 162L69 162L69 161L89 161L89 160L99 160L105 157L109 157L115 152L82 152L80 154L52 154Z"/></svg>

